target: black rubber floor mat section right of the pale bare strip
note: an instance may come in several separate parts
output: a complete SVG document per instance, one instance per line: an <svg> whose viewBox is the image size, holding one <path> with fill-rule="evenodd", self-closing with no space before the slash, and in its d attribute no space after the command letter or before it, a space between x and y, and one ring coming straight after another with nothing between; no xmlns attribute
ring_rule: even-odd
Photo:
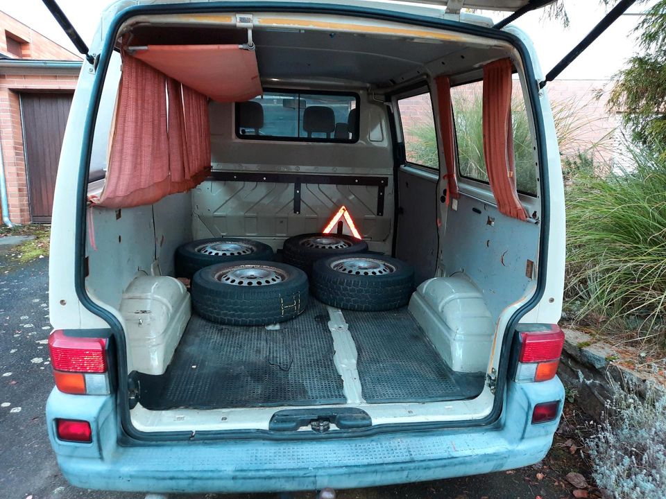
<svg viewBox="0 0 666 499"><path fill-rule="evenodd" d="M470 399L484 374L456 373L438 355L407 307L343 310L359 353L363 398L370 403Z"/></svg>

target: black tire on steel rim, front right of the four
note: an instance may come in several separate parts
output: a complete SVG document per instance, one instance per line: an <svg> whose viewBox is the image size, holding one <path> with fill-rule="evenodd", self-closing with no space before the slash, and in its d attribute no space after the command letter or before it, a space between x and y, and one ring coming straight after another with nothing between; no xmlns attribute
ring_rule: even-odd
<svg viewBox="0 0 666 499"><path fill-rule="evenodd" d="M336 308L391 310L409 303L414 269L384 255L332 256L314 263L311 284L319 301Z"/></svg>

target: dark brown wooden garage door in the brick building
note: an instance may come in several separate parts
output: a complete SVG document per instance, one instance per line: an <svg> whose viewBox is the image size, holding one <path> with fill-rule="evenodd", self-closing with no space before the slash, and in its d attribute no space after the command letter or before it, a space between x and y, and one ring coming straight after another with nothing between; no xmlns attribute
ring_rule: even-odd
<svg viewBox="0 0 666 499"><path fill-rule="evenodd" d="M53 190L71 94L22 94L28 194L33 222L51 222Z"/></svg>

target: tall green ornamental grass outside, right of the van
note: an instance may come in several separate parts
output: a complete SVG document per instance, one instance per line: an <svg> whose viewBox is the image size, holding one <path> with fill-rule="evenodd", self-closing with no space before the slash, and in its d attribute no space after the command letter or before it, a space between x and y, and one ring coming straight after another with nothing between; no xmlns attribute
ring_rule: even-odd
<svg viewBox="0 0 666 499"><path fill-rule="evenodd" d="M629 154L631 171L579 168L567 185L567 299L665 347L666 155Z"/></svg>

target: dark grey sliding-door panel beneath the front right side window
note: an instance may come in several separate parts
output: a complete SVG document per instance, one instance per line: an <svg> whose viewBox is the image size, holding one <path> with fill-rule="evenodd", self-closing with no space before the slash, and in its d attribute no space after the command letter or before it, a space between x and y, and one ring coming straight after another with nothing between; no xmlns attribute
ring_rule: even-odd
<svg viewBox="0 0 666 499"><path fill-rule="evenodd" d="M438 246L436 173L409 166L400 168L398 204L395 256L414 266L418 286L435 275Z"/></svg>

